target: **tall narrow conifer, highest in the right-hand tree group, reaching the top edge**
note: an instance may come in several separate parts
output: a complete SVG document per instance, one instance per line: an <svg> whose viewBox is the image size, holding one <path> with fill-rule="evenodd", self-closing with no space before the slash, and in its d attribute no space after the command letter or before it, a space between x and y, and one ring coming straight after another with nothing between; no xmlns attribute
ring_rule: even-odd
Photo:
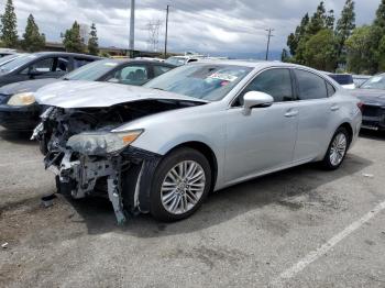
<svg viewBox="0 0 385 288"><path fill-rule="evenodd" d="M345 42L352 35L355 29L355 12L354 12L354 1L346 0L341 18L337 21L336 35L338 41L338 57L339 63L346 63L346 48Z"/></svg>

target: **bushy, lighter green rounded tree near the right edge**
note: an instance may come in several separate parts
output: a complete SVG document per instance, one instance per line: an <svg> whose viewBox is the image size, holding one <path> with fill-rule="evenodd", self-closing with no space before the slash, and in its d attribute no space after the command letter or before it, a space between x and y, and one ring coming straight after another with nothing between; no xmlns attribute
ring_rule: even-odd
<svg viewBox="0 0 385 288"><path fill-rule="evenodd" d="M348 70L355 74L375 74L376 65L374 52L371 48L374 38L373 26L356 27L346 40Z"/></svg>

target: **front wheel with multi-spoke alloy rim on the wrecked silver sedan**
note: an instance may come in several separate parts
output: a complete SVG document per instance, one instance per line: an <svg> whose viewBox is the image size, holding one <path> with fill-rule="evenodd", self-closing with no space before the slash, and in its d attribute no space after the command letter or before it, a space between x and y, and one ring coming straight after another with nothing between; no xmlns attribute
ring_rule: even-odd
<svg viewBox="0 0 385 288"><path fill-rule="evenodd" d="M161 221L191 215L211 187L211 168L196 149L183 147L167 155L156 168L151 189L151 213Z"/></svg>

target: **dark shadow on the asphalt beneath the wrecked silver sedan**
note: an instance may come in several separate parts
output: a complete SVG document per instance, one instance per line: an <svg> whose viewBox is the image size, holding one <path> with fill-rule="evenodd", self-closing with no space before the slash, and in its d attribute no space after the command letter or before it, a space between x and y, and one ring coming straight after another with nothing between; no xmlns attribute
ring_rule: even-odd
<svg viewBox="0 0 385 288"><path fill-rule="evenodd" d="M204 230L270 204L285 206L290 210L301 209L290 201L293 197L308 195L316 201L322 201L316 188L359 173L371 164L365 158L349 154L336 171L324 171L315 164L307 164L261 177L210 195L197 213L174 223L157 222L151 215L141 214L129 219L123 226L118 226L108 199L95 197L68 201L84 219L89 234L113 231L138 237L160 237Z"/></svg>

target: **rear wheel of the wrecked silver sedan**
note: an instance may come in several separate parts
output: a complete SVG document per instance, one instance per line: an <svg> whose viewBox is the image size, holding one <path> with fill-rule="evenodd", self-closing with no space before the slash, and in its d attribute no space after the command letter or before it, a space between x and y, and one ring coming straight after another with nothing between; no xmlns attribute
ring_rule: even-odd
<svg viewBox="0 0 385 288"><path fill-rule="evenodd" d="M350 144L350 135L346 129L339 128L327 151L327 154L321 162L322 167L327 170L336 170L343 163Z"/></svg>

